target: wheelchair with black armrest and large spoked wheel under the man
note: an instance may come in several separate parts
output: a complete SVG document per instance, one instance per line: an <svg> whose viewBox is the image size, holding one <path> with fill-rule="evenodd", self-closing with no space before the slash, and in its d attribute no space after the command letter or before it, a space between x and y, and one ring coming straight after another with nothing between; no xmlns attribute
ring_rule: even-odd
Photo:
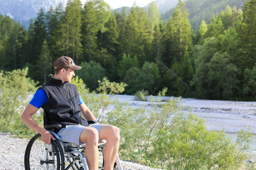
<svg viewBox="0 0 256 170"><path fill-rule="evenodd" d="M59 135L55 133L56 129L60 129L61 125L44 125L56 140L51 139L51 145L47 145L41 139L41 134L38 133L30 139L26 147L24 155L24 165L26 170L38 169L56 169L56 170L89 170L86 157L84 154L83 145L76 145L75 143L63 142ZM98 150L100 153L100 160L98 169L104 169L104 148L105 142L98 143ZM117 155L113 169L122 170L122 165Z"/></svg>

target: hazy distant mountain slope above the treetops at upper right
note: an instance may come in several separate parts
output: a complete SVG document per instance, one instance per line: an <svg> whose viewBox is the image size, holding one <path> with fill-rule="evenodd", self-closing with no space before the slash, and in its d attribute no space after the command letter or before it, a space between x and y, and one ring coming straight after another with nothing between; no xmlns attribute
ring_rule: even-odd
<svg viewBox="0 0 256 170"><path fill-rule="evenodd" d="M224 11L226 6L235 7L237 10L241 9L246 0L186 0L185 7L189 14L188 19L191 22L191 26L194 31L199 29L199 25L202 20L205 20L207 24L210 23L212 16L220 15L221 11ZM164 12L161 16L163 20L169 20L173 14L175 8Z"/></svg>

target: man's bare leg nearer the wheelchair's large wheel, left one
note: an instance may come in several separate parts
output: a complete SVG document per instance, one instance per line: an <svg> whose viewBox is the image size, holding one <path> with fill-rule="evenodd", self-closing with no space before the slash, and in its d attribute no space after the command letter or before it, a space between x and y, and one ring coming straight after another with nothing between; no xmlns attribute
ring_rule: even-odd
<svg viewBox="0 0 256 170"><path fill-rule="evenodd" d="M98 170L98 131L95 128L82 130L79 141L86 143L85 156L90 170Z"/></svg>

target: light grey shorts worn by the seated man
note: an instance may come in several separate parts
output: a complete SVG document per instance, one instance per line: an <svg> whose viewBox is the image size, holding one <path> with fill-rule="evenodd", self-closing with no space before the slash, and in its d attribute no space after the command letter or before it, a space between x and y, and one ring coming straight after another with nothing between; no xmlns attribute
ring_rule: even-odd
<svg viewBox="0 0 256 170"><path fill-rule="evenodd" d="M63 142L73 142L76 143L76 145L82 145L81 142L79 142L80 134L82 133L82 130L84 130L87 127L92 127L98 130L98 134L100 135L100 130L103 125L101 124L92 124L89 126L82 126L82 125L71 125L66 126L66 128L60 129L58 132L58 135L62 139ZM100 140L100 136L99 136Z"/></svg>

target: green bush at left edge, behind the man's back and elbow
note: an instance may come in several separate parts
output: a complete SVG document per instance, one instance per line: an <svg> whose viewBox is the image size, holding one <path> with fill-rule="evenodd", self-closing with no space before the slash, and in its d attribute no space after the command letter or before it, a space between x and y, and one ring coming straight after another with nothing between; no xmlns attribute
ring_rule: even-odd
<svg viewBox="0 0 256 170"><path fill-rule="evenodd" d="M20 120L28 104L28 95L36 90L36 83L27 78L28 68L0 73L0 131L13 134L32 133Z"/></svg>

